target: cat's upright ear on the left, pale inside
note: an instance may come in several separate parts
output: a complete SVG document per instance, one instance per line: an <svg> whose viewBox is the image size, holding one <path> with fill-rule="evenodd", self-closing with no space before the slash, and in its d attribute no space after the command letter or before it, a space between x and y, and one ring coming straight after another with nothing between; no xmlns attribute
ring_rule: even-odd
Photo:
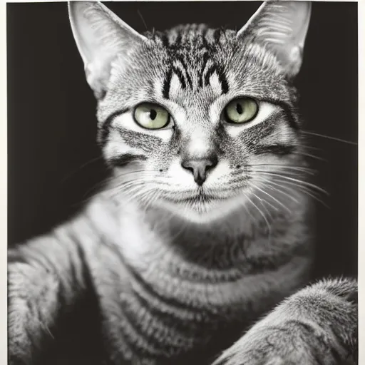
<svg viewBox="0 0 365 365"><path fill-rule="evenodd" d="M106 93L112 62L147 38L130 28L100 2L68 1L73 36L96 98Z"/></svg>

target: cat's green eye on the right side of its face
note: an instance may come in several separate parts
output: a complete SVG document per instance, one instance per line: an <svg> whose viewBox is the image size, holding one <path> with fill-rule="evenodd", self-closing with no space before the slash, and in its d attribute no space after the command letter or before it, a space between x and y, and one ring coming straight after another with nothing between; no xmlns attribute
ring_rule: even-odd
<svg viewBox="0 0 365 365"><path fill-rule="evenodd" d="M230 123L250 122L259 111L255 100L251 98L238 98L232 100L225 107L225 116Z"/></svg>

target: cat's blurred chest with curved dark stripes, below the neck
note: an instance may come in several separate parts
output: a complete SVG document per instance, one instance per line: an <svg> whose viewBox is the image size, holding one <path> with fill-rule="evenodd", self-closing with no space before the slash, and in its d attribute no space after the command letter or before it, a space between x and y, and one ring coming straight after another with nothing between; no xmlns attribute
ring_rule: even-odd
<svg viewBox="0 0 365 365"><path fill-rule="evenodd" d="M297 271L297 278L286 284L272 273L215 284L165 282L161 277L157 282L152 274L148 279L124 267L121 276L119 270L97 287L108 356L131 364L141 359L141 364L164 364L197 353L210 358L225 339L235 337L236 327L242 333L298 286L302 270L294 266L301 265L293 263L279 273Z"/></svg>

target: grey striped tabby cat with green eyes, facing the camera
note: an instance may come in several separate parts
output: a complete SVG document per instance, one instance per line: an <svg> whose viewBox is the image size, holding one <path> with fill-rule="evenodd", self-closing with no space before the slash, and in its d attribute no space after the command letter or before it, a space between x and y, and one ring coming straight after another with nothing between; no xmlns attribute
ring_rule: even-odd
<svg viewBox="0 0 365 365"><path fill-rule="evenodd" d="M264 2L240 31L145 34L98 2L68 9L113 175L9 250L9 363L355 364L356 280L309 283L294 78L311 3ZM49 360L61 327L100 327L101 350Z"/></svg>

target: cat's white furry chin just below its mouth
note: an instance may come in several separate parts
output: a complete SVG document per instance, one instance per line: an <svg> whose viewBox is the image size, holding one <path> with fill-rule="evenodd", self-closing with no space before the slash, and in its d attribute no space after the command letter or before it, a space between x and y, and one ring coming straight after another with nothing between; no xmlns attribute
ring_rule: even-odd
<svg viewBox="0 0 365 365"><path fill-rule="evenodd" d="M179 203L163 200L158 202L158 205L188 222L210 223L225 220L237 210L245 210L244 201L245 197L235 196L204 203Z"/></svg>

